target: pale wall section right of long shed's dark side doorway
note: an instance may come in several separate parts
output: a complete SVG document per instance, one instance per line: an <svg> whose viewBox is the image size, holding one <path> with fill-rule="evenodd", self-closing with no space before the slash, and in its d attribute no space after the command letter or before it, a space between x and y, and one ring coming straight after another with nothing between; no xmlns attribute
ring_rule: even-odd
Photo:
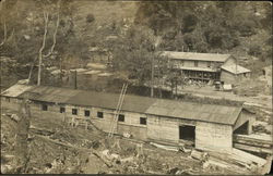
<svg viewBox="0 0 273 176"><path fill-rule="evenodd" d="M233 149L233 127L229 125L197 122L195 148L212 151L230 151Z"/></svg>

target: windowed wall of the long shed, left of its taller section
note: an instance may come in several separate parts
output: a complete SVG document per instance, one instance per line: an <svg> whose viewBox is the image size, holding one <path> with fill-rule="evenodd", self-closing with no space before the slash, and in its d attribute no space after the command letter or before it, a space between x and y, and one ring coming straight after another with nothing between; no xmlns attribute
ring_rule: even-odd
<svg viewBox="0 0 273 176"><path fill-rule="evenodd" d="M57 104L48 104L48 111L41 111L41 104L35 103L32 104L32 111L35 113L35 115L41 115L43 116L55 116L59 120L63 120L64 116L67 120L71 120L72 117L75 117L78 120L88 120L91 121L96 127L104 130L105 133L110 131L110 127L114 120L114 113L115 110L109 109L102 109L102 108L91 108L91 106L79 106L79 105L57 105ZM66 108L66 113L60 113L60 106ZM72 109L78 110L78 115L72 114ZM90 111L90 116L84 115L84 111ZM103 112L104 117L97 117L97 112ZM50 114L50 115L48 115ZM132 135L132 137L136 139L146 139L146 125L140 124L140 117L146 117L145 114L141 113L132 113L132 112L120 112L120 114L124 115L124 122L118 122L118 126L115 128L114 133L123 135L124 133L128 133Z"/></svg>

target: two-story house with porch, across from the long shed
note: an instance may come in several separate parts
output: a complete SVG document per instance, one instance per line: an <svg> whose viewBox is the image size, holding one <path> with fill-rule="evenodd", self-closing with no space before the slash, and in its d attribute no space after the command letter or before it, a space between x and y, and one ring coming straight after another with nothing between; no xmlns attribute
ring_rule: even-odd
<svg viewBox="0 0 273 176"><path fill-rule="evenodd" d="M163 51L162 55L173 62L174 70L193 80L235 84L237 78L241 80L250 75L250 71L238 65L232 54Z"/></svg>

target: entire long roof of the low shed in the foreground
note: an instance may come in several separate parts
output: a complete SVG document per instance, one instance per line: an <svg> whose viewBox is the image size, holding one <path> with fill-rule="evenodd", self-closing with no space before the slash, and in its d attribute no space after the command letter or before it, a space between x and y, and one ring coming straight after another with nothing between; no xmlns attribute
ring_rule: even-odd
<svg viewBox="0 0 273 176"><path fill-rule="evenodd" d="M14 85L10 89L14 90L21 86L23 85ZM28 89L20 91L20 93L17 92L16 95L14 93L15 96L13 95L13 97L26 97L36 101L96 106L112 110L116 110L119 100L118 93L105 93L47 86L27 87ZM2 96L7 96L7 91L4 91ZM166 117L234 125L238 118L241 108L126 95L121 110Z"/></svg>

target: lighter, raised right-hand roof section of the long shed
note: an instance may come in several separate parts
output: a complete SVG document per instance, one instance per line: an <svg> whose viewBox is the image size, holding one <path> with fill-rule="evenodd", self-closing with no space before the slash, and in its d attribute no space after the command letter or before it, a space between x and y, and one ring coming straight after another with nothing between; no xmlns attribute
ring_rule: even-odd
<svg viewBox="0 0 273 176"><path fill-rule="evenodd" d="M234 125L241 108L157 99L145 113Z"/></svg>

